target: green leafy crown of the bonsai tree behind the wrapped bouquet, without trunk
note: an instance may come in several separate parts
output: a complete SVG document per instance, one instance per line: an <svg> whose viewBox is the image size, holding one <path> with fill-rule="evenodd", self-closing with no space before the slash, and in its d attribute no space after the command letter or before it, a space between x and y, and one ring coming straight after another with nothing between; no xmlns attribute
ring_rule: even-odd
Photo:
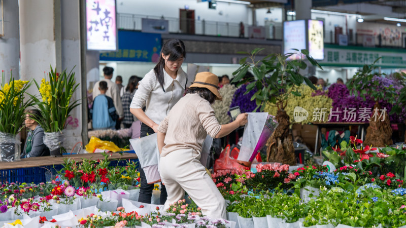
<svg viewBox="0 0 406 228"><path fill-rule="evenodd" d="M307 68L304 59L300 58L290 61L288 58L292 56L293 53L288 53L285 55L271 54L256 61L256 55L261 50L263 50L263 48L254 49L251 53L241 52L241 54L248 56L240 60L240 68L232 73L234 75L232 82L238 82L239 85L253 81L247 86L247 92L245 94L254 88L258 90L252 96L251 100L255 99L257 108L261 107L261 111L263 111L266 102L276 105L278 110L284 109L287 105L290 93L295 96L301 96L297 91L297 87L295 88L294 85L300 86L303 81L312 89L316 90L312 82L299 73L300 69ZM308 50L303 49L300 53L306 56L312 65L321 68L316 60L309 55ZM254 79L243 79L248 70L253 72Z"/></svg>

